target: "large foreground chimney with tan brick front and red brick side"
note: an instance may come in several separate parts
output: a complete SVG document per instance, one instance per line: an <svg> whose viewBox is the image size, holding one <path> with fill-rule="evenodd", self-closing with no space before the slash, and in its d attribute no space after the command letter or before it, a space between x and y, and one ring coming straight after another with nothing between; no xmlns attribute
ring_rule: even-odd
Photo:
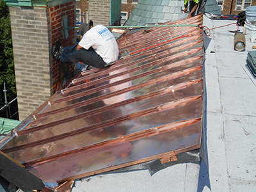
<svg viewBox="0 0 256 192"><path fill-rule="evenodd" d="M63 38L63 17L68 27L75 25L75 2L53 8L10 7L13 56L19 108L24 120L54 93L60 62L52 60L56 40L63 45L76 42L75 29ZM75 65L70 65L74 70Z"/></svg>

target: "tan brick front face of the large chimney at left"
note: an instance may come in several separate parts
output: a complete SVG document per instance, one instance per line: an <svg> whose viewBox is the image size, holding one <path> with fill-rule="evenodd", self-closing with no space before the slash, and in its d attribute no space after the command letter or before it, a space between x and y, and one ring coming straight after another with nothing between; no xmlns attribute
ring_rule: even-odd
<svg viewBox="0 0 256 192"><path fill-rule="evenodd" d="M49 13L42 8L10 7L19 108L23 120L51 96Z"/></svg>

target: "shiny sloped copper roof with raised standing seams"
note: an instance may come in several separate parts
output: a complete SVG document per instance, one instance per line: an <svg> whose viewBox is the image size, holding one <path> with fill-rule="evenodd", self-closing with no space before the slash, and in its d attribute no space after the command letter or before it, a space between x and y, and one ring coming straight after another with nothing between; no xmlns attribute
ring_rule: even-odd
<svg viewBox="0 0 256 192"><path fill-rule="evenodd" d="M1 150L44 182L62 182L200 148L202 29L148 31L124 35L118 45L129 56L78 74L1 140Z"/></svg>

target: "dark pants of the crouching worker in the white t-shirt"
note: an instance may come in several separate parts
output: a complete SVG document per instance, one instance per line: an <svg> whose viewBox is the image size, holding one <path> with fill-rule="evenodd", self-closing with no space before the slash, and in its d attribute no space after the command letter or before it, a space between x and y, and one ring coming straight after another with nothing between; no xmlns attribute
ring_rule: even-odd
<svg viewBox="0 0 256 192"><path fill-rule="evenodd" d="M60 56L60 61L63 64L66 63L77 63L83 62L86 65L93 67L104 67L107 65L101 56L95 52L92 47L88 50L82 48L76 51L77 45L68 46L63 49L63 52Z"/></svg>

